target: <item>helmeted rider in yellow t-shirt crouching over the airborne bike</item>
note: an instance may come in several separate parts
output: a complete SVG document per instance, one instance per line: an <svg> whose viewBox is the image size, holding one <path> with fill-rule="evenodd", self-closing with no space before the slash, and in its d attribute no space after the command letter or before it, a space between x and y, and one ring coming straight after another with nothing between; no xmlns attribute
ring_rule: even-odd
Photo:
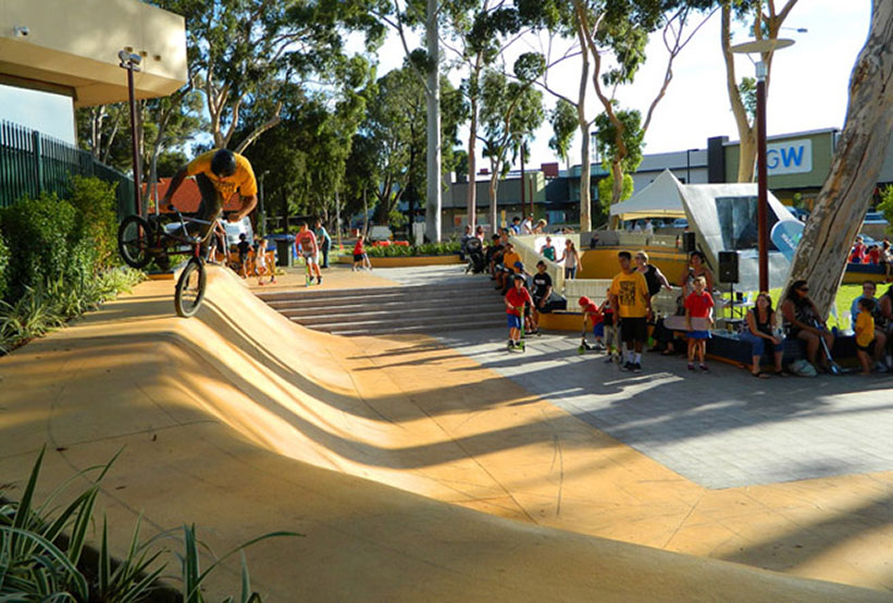
<svg viewBox="0 0 893 603"><path fill-rule="evenodd" d="M258 205L258 183L251 163L231 150L215 149L196 157L174 174L168 193L161 200L161 207L173 207L171 198L188 176L196 177L196 184L201 193L197 218L210 222L207 225L202 224L199 231L202 237L211 232L223 204L230 200L234 193L238 192L241 208L230 216L230 222L240 221Z"/></svg>

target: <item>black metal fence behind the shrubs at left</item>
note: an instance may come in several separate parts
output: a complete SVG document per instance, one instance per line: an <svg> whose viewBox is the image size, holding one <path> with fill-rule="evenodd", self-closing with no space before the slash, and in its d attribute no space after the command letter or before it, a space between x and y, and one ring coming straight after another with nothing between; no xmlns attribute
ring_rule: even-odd
<svg viewBox="0 0 893 603"><path fill-rule="evenodd" d="M85 151L36 130L0 121L0 207L41 193L64 196L72 175L116 183L117 219L134 212L134 182Z"/></svg>

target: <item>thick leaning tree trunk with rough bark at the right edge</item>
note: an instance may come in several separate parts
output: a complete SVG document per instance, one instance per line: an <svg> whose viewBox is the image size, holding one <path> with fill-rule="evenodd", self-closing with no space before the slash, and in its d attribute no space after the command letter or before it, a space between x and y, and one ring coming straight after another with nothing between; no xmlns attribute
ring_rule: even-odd
<svg viewBox="0 0 893 603"><path fill-rule="evenodd" d="M893 2L872 0L871 29L849 78L849 106L831 172L794 256L791 282L809 282L823 316L877 186L893 127Z"/></svg>

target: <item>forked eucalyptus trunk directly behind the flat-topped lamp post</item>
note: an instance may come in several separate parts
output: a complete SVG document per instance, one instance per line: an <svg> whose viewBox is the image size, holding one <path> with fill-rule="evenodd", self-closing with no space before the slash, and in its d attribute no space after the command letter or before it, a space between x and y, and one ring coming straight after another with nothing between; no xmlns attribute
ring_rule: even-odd
<svg viewBox="0 0 893 603"><path fill-rule="evenodd" d="M754 39L778 39L781 26L791 14L797 0L787 0L781 10L777 10L773 0L719 0L722 25L720 27L720 42L722 59L725 63L725 89L732 114L735 118L741 153L737 164L737 182L753 182L754 161L757 156L756 128L754 123L754 79L744 77L741 82L735 75L735 60L732 52L732 19L733 16L747 24L747 30ZM772 73L774 50L761 53L761 61L766 64L766 94L769 94L769 81Z"/></svg>

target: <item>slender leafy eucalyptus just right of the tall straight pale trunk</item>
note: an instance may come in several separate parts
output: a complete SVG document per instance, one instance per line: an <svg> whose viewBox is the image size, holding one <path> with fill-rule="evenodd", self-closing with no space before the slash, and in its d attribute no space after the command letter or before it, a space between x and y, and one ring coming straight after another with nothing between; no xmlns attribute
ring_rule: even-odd
<svg viewBox="0 0 893 603"><path fill-rule="evenodd" d="M545 118L543 93L533 87L542 73L542 57L522 54L516 61L518 81L510 81L501 72L488 70L482 83L481 125L484 135L482 155L489 160L489 220L498 224L499 179L510 167L508 153L517 148L521 137L531 136ZM473 185L473 181L472 181Z"/></svg>

